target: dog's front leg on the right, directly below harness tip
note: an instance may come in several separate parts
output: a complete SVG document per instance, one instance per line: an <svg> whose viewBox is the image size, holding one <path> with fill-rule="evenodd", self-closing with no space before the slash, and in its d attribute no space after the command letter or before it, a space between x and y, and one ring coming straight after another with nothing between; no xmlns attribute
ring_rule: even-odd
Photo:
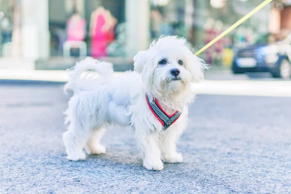
<svg viewBox="0 0 291 194"><path fill-rule="evenodd" d="M181 163L183 157L177 152L177 142L182 133L178 126L168 128L162 134L162 161L166 163Z"/></svg>

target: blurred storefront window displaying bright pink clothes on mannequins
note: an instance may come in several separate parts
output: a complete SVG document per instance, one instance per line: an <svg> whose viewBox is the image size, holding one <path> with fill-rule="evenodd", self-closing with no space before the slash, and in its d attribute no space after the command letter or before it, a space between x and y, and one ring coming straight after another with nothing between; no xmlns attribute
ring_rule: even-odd
<svg viewBox="0 0 291 194"><path fill-rule="evenodd" d="M124 56L124 22L125 0L49 0L50 53L63 56L69 41L71 56L82 45L89 56Z"/></svg>

